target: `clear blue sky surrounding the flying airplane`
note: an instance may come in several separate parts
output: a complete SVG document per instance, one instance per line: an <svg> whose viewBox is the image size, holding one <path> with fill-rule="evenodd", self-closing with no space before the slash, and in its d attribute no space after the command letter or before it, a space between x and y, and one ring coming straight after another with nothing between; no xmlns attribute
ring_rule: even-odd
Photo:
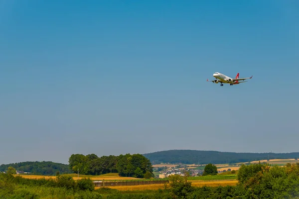
<svg viewBox="0 0 299 199"><path fill-rule="evenodd" d="M299 152L298 19L297 0L0 0L0 164Z"/></svg>

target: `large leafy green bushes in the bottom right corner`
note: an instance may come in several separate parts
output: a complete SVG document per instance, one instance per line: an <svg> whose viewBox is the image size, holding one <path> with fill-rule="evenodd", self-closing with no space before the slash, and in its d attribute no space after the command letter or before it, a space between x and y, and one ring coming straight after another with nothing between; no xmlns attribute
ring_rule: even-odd
<svg viewBox="0 0 299 199"><path fill-rule="evenodd" d="M237 190L246 198L289 199L299 196L299 164L285 167L269 164L242 165Z"/></svg>

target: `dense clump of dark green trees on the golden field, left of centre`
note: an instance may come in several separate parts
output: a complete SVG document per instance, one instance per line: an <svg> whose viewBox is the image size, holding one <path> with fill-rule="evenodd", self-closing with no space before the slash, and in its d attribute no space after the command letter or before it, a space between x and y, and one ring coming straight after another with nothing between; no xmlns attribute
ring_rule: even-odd
<svg viewBox="0 0 299 199"><path fill-rule="evenodd" d="M150 178L152 165L141 154L126 154L119 156L102 156L95 154L72 154L69 158L69 169L73 173L83 175L102 175L119 173L122 177Z"/></svg>

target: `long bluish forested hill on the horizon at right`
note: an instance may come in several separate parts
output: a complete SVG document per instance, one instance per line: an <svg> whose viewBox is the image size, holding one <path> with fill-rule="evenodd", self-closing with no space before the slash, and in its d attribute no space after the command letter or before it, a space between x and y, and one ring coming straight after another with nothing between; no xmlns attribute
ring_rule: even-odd
<svg viewBox="0 0 299 199"><path fill-rule="evenodd" d="M232 164L269 159L299 158L299 153L234 153L197 150L168 150L143 154L152 164Z"/></svg>

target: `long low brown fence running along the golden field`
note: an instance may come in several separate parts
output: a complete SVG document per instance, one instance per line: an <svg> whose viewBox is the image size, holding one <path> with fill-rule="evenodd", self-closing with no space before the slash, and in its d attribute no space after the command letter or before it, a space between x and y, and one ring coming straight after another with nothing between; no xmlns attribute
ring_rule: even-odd
<svg viewBox="0 0 299 199"><path fill-rule="evenodd" d="M109 181L94 181L95 187L110 187L110 186L131 186L131 185L153 185L169 183L168 180L159 181L125 181L125 182L109 182Z"/></svg>

